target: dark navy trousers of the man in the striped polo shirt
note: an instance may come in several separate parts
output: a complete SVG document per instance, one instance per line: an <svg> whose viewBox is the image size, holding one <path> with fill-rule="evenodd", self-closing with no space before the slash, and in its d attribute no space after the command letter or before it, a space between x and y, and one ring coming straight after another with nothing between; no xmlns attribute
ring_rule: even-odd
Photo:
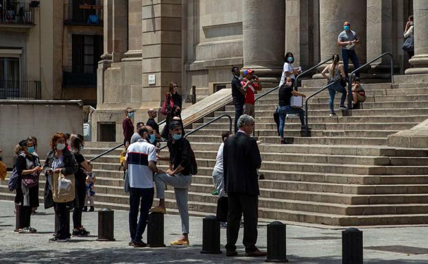
<svg viewBox="0 0 428 264"><path fill-rule="evenodd" d="M143 238L145 226L147 226L147 219L149 217L149 210L153 204L154 188L132 188L130 187L130 235L131 241L140 242ZM141 200L141 204L140 204ZM140 219L138 224L136 218L138 217L140 208Z"/></svg>

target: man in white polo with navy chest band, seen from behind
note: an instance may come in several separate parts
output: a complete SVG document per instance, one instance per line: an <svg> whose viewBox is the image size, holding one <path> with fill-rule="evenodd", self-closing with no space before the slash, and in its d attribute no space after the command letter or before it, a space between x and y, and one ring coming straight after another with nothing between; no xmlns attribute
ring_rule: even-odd
<svg viewBox="0 0 428 264"><path fill-rule="evenodd" d="M146 246L146 243L141 239L147 225L149 209L153 203L153 173L161 172L156 167L156 148L148 142L150 134L153 134L152 128L140 128L138 133L141 139L128 147L125 161L125 168L129 170L130 182L129 225L131 241L129 244L134 248ZM140 219L137 224L140 201Z"/></svg>

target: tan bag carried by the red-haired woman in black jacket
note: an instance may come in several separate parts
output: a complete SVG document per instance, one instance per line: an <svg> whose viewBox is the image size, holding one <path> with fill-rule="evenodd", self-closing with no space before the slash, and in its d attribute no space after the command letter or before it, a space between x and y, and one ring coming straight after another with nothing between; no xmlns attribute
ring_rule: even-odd
<svg viewBox="0 0 428 264"><path fill-rule="evenodd" d="M54 173L52 176L52 196L53 202L71 202L75 198L75 178L74 174L64 175Z"/></svg>

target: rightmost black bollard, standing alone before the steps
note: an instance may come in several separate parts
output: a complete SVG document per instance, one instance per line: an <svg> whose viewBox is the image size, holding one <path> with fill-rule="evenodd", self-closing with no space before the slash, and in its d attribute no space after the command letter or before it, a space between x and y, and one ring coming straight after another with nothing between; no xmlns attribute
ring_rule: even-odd
<svg viewBox="0 0 428 264"><path fill-rule="evenodd" d="M342 231L342 264L363 264L363 231L357 228Z"/></svg>

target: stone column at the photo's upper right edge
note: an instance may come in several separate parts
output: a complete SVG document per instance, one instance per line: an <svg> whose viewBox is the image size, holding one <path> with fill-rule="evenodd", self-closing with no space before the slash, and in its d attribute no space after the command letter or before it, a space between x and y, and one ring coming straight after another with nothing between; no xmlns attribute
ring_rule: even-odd
<svg viewBox="0 0 428 264"><path fill-rule="evenodd" d="M409 60L413 68L405 70L405 74L428 73L428 1L413 1L414 16L414 51Z"/></svg>

